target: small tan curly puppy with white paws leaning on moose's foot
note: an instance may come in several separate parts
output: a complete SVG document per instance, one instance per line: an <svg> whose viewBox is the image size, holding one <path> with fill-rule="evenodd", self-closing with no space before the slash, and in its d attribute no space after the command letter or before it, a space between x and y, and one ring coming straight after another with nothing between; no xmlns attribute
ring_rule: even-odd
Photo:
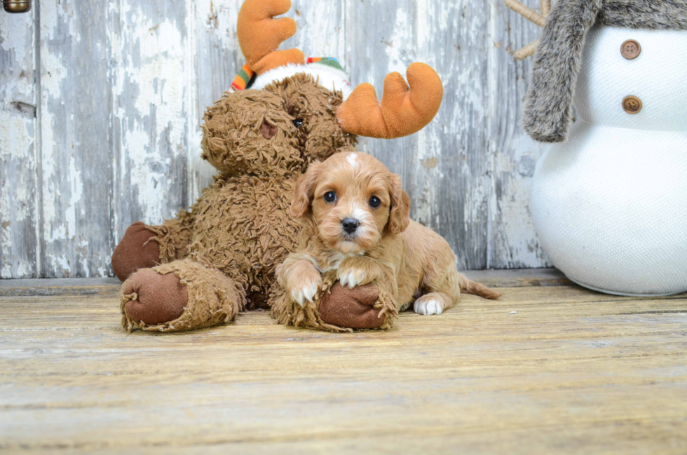
<svg viewBox="0 0 687 455"><path fill-rule="evenodd" d="M374 282L397 309L414 301L421 315L441 314L461 291L487 299L498 292L456 270L451 247L411 221L401 179L360 152L313 163L296 184L291 216L301 218L297 252L277 269L281 287L301 306L313 301L321 273L336 270L342 286Z"/></svg>

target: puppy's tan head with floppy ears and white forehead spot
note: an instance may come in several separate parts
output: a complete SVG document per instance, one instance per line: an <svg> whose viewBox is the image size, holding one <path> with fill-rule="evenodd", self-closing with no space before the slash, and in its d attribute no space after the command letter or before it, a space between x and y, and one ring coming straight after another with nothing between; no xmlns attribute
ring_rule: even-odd
<svg viewBox="0 0 687 455"><path fill-rule="evenodd" d="M343 152L310 165L297 183L291 214L309 216L325 244L348 254L402 232L409 210L400 177L372 156Z"/></svg>

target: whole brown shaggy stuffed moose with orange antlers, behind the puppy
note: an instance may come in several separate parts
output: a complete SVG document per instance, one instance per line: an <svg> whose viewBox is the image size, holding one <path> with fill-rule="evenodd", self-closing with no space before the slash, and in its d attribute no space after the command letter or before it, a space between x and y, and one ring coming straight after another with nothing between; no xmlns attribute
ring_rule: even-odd
<svg viewBox="0 0 687 455"><path fill-rule="evenodd" d="M289 208L308 164L353 150L357 135L415 133L437 113L442 83L426 64L410 65L409 84L389 74L380 103L367 83L351 92L336 60L275 50L296 32L294 20L273 19L290 6L246 0L240 10L243 76L252 86L225 93L205 112L203 158L217 168L214 182L176 218L132 224L115 248L125 329L209 327L279 301L275 269L297 246L299 221ZM349 289L334 280L306 308L282 305L273 315L323 330L391 327L393 312L381 311L374 285Z"/></svg>

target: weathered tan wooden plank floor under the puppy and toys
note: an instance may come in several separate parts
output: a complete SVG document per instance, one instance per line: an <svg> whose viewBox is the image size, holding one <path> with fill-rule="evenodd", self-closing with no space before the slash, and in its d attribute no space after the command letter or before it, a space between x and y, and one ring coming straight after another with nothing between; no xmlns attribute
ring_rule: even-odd
<svg viewBox="0 0 687 455"><path fill-rule="evenodd" d="M391 332L126 334L114 280L0 282L2 453L687 454L687 295L472 273Z"/></svg>

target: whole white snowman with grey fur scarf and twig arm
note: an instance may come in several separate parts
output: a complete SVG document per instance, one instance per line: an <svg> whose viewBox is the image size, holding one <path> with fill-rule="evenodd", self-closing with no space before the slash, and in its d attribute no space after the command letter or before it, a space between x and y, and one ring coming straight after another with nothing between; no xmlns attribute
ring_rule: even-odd
<svg viewBox="0 0 687 455"><path fill-rule="evenodd" d="M543 249L593 290L686 292L687 0L506 4L544 27L515 53L534 55L524 129L555 142L532 187Z"/></svg>

